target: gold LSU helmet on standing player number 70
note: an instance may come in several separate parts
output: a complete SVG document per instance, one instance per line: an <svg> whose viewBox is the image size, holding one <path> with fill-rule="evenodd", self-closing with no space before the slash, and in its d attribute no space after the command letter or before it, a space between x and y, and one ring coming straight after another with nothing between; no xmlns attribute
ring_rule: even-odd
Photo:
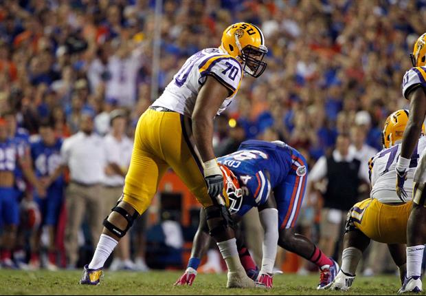
<svg viewBox="0 0 426 296"><path fill-rule="evenodd" d="M263 60L268 49L262 31L251 23L234 23L223 31L221 49L234 56L247 74L259 77L267 63Z"/></svg>

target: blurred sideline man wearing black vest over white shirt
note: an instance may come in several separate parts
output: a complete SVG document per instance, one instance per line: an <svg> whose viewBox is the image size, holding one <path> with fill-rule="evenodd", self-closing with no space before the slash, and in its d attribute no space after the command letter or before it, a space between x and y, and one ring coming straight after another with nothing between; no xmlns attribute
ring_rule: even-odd
<svg viewBox="0 0 426 296"><path fill-rule="evenodd" d="M326 180L326 188L317 189L317 184L322 180ZM333 154L322 156L309 173L311 192L317 191L324 198L319 245L329 257L335 253L346 213L357 202L361 181L369 182L368 171L363 169L361 161L351 151L349 135L339 134Z"/></svg>

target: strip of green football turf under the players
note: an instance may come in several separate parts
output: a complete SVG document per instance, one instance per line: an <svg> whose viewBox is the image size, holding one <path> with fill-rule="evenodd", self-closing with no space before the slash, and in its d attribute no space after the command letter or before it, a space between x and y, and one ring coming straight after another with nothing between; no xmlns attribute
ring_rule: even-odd
<svg viewBox="0 0 426 296"><path fill-rule="evenodd" d="M99 286L78 284L80 271L0 270L0 295L396 295L396 276L357 277L349 293L316 290L318 275L276 275L274 288L226 289L226 275L198 275L193 286L174 287L175 271L106 271Z"/></svg>

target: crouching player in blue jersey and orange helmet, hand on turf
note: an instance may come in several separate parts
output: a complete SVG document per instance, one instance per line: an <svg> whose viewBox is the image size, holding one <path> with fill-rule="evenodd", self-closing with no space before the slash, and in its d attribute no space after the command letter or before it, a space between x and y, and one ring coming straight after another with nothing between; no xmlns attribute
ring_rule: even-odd
<svg viewBox="0 0 426 296"><path fill-rule="evenodd" d="M294 230L308 173L306 160L300 152L280 141L247 140L240 145L238 151L218 158L218 162L225 179L223 195L229 198L229 210L234 223L249 209L257 207L260 222L265 230L262 268L256 285L272 288L277 245L304 257L320 268L318 289L333 282L339 271L337 263ZM192 284L197 275L201 257L196 256L202 253L201 249L207 238L205 233L208 231L208 228L203 226L206 222L202 218L203 215L199 231L194 237L188 268L176 285Z"/></svg>

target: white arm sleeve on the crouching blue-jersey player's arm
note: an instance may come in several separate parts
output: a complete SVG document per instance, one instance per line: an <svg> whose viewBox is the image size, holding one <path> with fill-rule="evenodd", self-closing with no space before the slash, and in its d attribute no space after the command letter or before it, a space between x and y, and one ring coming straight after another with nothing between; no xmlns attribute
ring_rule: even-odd
<svg viewBox="0 0 426 296"><path fill-rule="evenodd" d="M259 212L260 222L262 223L265 235L263 237L263 257L260 273L272 273L277 255L278 245L278 210L264 209Z"/></svg>

